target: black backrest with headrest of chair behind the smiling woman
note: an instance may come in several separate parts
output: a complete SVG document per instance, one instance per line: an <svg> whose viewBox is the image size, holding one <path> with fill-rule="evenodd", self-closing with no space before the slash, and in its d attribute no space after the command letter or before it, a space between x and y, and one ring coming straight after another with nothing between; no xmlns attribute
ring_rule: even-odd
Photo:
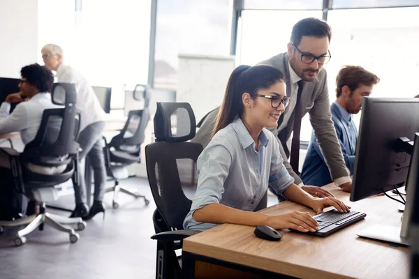
<svg viewBox="0 0 419 279"><path fill-rule="evenodd" d="M186 142L195 136L196 121L188 103L157 103L154 116L156 142L145 147L147 176L154 202L167 228L183 229L196 186L196 160L200 144Z"/></svg>

